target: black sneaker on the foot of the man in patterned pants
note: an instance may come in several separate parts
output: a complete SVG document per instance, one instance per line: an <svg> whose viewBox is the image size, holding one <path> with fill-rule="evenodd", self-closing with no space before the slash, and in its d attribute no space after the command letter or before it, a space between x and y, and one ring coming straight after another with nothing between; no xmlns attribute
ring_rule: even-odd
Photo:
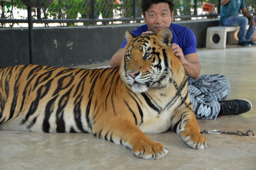
<svg viewBox="0 0 256 170"><path fill-rule="evenodd" d="M249 100L238 98L236 100L219 101L221 110L218 116L221 115L239 115L251 110L252 104Z"/></svg>

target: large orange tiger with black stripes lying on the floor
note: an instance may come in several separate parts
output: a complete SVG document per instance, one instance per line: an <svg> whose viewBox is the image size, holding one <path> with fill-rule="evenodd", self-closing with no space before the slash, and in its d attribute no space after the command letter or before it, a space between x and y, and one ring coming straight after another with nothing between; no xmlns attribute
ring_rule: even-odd
<svg viewBox="0 0 256 170"><path fill-rule="evenodd" d="M126 39L120 68L0 69L0 130L92 133L145 159L168 153L145 133L172 130L192 148L207 148L184 68L170 48L171 29L138 37L126 31Z"/></svg>

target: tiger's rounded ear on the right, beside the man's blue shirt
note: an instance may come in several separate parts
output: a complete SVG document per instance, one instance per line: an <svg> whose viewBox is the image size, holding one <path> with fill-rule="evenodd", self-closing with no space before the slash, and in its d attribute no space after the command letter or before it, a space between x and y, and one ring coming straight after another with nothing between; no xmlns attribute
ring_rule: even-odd
<svg viewBox="0 0 256 170"><path fill-rule="evenodd" d="M165 27L157 33L157 37L161 40L163 44L168 47L172 45L172 29Z"/></svg>

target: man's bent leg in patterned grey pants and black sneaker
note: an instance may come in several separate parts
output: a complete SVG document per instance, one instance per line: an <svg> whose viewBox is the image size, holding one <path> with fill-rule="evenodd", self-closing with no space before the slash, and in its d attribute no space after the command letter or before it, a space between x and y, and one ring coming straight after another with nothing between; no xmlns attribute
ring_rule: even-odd
<svg viewBox="0 0 256 170"><path fill-rule="evenodd" d="M246 99L225 100L230 92L229 79L222 75L202 75L188 78L188 88L194 112L199 119L216 119L222 115L248 112L252 104Z"/></svg>

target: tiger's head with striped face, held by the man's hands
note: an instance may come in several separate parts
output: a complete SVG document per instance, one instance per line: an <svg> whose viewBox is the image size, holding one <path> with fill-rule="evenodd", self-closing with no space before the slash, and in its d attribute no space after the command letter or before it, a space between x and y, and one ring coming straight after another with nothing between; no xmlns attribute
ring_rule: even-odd
<svg viewBox="0 0 256 170"><path fill-rule="evenodd" d="M136 93L166 87L173 75L172 60L177 60L171 51L171 28L137 37L127 30L126 40L126 51L120 66L123 82Z"/></svg>

